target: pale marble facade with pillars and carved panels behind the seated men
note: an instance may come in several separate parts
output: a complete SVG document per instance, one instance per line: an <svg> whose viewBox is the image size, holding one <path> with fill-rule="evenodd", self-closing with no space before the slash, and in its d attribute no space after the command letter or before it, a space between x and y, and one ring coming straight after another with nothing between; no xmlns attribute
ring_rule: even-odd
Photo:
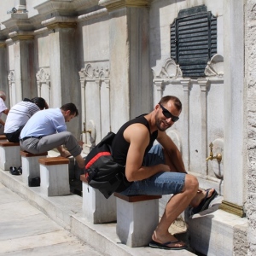
<svg viewBox="0 0 256 256"><path fill-rule="evenodd" d="M189 218L190 246L207 255L256 253L255 0L2 2L0 90L9 107L33 96L50 108L74 102L79 119L68 129L87 154L161 96L178 96L183 113L167 132L188 172L224 199ZM171 57L170 27L196 6L217 17L217 54L203 77L190 78ZM207 161L210 143L220 162Z"/></svg>

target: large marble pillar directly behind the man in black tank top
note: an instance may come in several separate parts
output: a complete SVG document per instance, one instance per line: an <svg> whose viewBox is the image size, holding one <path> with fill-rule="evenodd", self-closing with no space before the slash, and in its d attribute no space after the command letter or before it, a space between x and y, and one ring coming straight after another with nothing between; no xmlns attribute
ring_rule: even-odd
<svg viewBox="0 0 256 256"><path fill-rule="evenodd" d="M101 0L109 13L113 131L152 108L148 64L148 0ZM120 65L120 61L122 64ZM120 101L120 99L122 99ZM125 106L125 108L123 107ZM120 109L123 113L120 113Z"/></svg>

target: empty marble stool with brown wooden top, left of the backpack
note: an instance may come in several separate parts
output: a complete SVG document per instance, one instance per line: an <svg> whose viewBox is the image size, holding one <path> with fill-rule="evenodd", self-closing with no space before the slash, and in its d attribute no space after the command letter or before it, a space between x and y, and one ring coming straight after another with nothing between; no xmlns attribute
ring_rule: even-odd
<svg viewBox="0 0 256 256"><path fill-rule="evenodd" d="M46 196L69 195L69 160L65 157L40 158L41 193Z"/></svg>

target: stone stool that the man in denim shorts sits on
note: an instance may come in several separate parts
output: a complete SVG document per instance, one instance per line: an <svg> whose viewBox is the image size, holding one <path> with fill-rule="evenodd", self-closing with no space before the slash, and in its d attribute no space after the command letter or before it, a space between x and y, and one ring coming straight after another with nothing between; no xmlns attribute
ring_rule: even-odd
<svg viewBox="0 0 256 256"><path fill-rule="evenodd" d="M147 246L159 223L160 195L121 195L117 199L116 233L129 247Z"/></svg>

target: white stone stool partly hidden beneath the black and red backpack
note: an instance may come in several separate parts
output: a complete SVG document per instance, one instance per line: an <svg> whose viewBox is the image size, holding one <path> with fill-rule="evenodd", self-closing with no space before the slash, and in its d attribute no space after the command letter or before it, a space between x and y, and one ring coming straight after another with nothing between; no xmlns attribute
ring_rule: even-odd
<svg viewBox="0 0 256 256"><path fill-rule="evenodd" d="M80 176L83 182L83 213L92 224L116 221L116 199L111 195L108 199L98 189L90 187L85 175Z"/></svg>

